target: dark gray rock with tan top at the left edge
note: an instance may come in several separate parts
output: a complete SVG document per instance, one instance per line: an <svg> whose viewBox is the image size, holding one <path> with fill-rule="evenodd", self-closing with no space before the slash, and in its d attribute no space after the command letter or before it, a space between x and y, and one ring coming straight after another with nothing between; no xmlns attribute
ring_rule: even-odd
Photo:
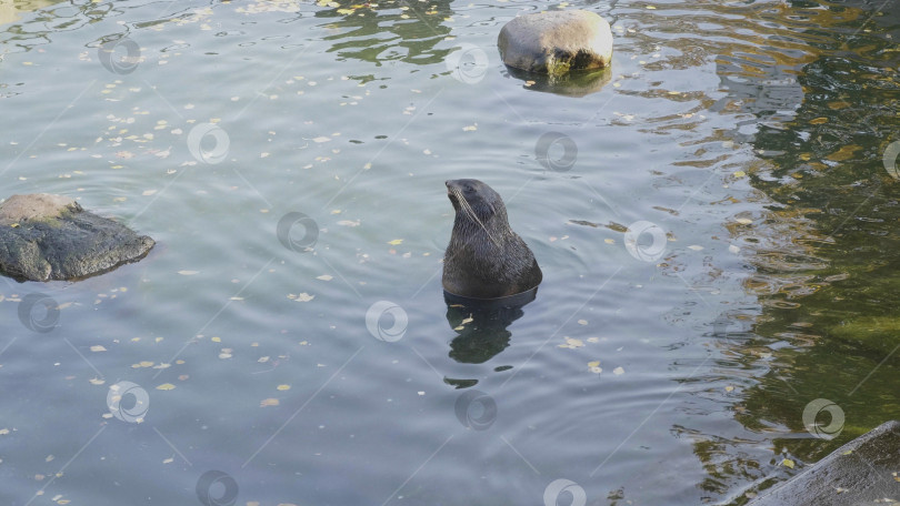
<svg viewBox="0 0 900 506"><path fill-rule="evenodd" d="M0 272L12 277L86 277L140 260L153 244L67 196L12 195L0 204Z"/></svg>

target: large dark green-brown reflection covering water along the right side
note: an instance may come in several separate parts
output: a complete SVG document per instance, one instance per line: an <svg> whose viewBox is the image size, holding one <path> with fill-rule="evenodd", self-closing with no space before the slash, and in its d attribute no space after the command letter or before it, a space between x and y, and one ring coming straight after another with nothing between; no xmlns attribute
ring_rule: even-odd
<svg viewBox="0 0 900 506"><path fill-rule="evenodd" d="M740 340L711 323L719 366L750 378L731 409L758 437L674 427L693 441L710 493L767 488L796 474L783 457L816 462L900 417L900 181L882 163L900 140L900 11L878 13L882 3L766 6L753 21L776 34L717 58L727 95L711 109L734 115L729 135L763 162L748 172L771 204L726 225L753 266L743 284L761 313ZM804 427L817 398L846 414L832 441Z"/></svg>

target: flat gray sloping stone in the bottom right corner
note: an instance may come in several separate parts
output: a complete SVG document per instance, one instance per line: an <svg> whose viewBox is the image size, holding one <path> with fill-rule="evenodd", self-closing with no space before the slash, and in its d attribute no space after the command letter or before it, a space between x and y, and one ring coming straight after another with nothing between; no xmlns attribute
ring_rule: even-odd
<svg viewBox="0 0 900 506"><path fill-rule="evenodd" d="M900 500L897 477L900 477L900 422L891 421L841 446L748 506L892 504Z"/></svg>

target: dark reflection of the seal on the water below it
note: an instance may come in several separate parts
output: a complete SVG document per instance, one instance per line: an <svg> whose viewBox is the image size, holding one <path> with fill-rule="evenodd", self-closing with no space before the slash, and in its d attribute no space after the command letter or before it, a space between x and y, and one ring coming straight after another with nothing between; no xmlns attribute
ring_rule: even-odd
<svg viewBox="0 0 900 506"><path fill-rule="evenodd" d="M507 327L522 317L522 307L537 294L537 286L500 298L469 298L444 291L447 322L458 334L450 342L450 357L461 364L483 364L506 350L512 337Z"/></svg>

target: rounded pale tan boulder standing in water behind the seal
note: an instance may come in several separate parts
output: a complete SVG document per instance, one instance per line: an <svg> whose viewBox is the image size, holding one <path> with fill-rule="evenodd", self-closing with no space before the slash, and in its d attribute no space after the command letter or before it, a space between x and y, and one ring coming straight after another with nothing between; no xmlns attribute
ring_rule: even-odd
<svg viewBox="0 0 900 506"><path fill-rule="evenodd" d="M504 24L497 45L509 67L561 75L609 67L612 31L607 20L593 12L538 12Z"/></svg>

